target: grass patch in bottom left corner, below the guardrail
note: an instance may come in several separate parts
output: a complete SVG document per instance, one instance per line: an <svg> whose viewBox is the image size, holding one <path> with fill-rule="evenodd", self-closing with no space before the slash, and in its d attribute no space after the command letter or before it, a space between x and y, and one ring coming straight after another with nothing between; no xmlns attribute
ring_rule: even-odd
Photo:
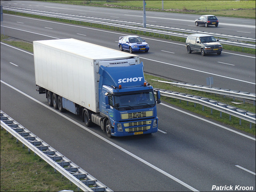
<svg viewBox="0 0 256 192"><path fill-rule="evenodd" d="M1 191L78 191L76 185L1 129Z"/></svg>

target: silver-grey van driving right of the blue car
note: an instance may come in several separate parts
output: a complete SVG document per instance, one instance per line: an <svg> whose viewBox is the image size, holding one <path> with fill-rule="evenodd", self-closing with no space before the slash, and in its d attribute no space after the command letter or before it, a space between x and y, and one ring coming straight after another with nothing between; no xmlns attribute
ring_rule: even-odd
<svg viewBox="0 0 256 192"><path fill-rule="evenodd" d="M202 56L206 53L217 53L217 55L220 55L222 45L219 43L219 40L214 38L214 36L192 34L188 35L186 39L186 49L188 53L191 53L192 51L200 51Z"/></svg>

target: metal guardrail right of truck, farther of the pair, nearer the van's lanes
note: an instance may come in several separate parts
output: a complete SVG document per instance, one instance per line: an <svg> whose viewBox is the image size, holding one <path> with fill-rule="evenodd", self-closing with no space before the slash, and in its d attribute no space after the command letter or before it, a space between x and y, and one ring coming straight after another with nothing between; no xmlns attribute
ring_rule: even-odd
<svg viewBox="0 0 256 192"><path fill-rule="evenodd" d="M255 93L235 91L235 90L230 90L230 89L221 89L221 88L216 88L216 87L207 87L204 85L194 85L194 84L182 83L182 82L168 82L168 81L160 81L160 80L156 80L156 79L151 79L151 80L175 85L177 87L183 87L186 89L192 89L192 90L196 90L196 91L204 91L204 92L208 92L208 93L215 93L215 94L226 95L226 96L230 96L230 97L238 97L238 98L242 98L242 99L248 99L248 100L254 101L254 105L255 105L255 100L256 100Z"/></svg>

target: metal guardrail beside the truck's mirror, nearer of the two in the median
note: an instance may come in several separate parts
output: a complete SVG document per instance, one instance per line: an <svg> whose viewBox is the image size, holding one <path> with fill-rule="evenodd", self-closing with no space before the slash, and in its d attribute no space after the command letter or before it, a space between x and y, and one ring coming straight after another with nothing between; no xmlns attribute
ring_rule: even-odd
<svg viewBox="0 0 256 192"><path fill-rule="evenodd" d="M200 105L209 107L211 109L215 109L217 111L227 113L228 115L232 115L234 117L238 117L239 119L243 119L245 121L249 121L250 123L255 124L255 113L252 113L250 111L246 111L243 109L239 109L237 107L234 107L232 105L227 105L225 103L221 103L219 101L215 101L213 99L209 99L206 97L200 97L196 95L190 95L186 93L179 93L175 91L168 91L165 89L154 89L154 91L160 91L160 95L166 96L166 97L172 97L174 99L180 99L184 101L189 101L193 103L198 103ZM251 125L250 125L251 127Z"/></svg>

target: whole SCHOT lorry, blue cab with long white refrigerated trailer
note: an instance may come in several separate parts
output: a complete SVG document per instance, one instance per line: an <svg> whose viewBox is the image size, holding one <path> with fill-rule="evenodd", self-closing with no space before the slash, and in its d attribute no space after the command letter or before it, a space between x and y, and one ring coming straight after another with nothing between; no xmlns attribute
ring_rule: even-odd
<svg viewBox="0 0 256 192"><path fill-rule="evenodd" d="M160 93L138 55L75 39L34 41L36 90L59 111L80 115L107 136L155 133Z"/></svg>

